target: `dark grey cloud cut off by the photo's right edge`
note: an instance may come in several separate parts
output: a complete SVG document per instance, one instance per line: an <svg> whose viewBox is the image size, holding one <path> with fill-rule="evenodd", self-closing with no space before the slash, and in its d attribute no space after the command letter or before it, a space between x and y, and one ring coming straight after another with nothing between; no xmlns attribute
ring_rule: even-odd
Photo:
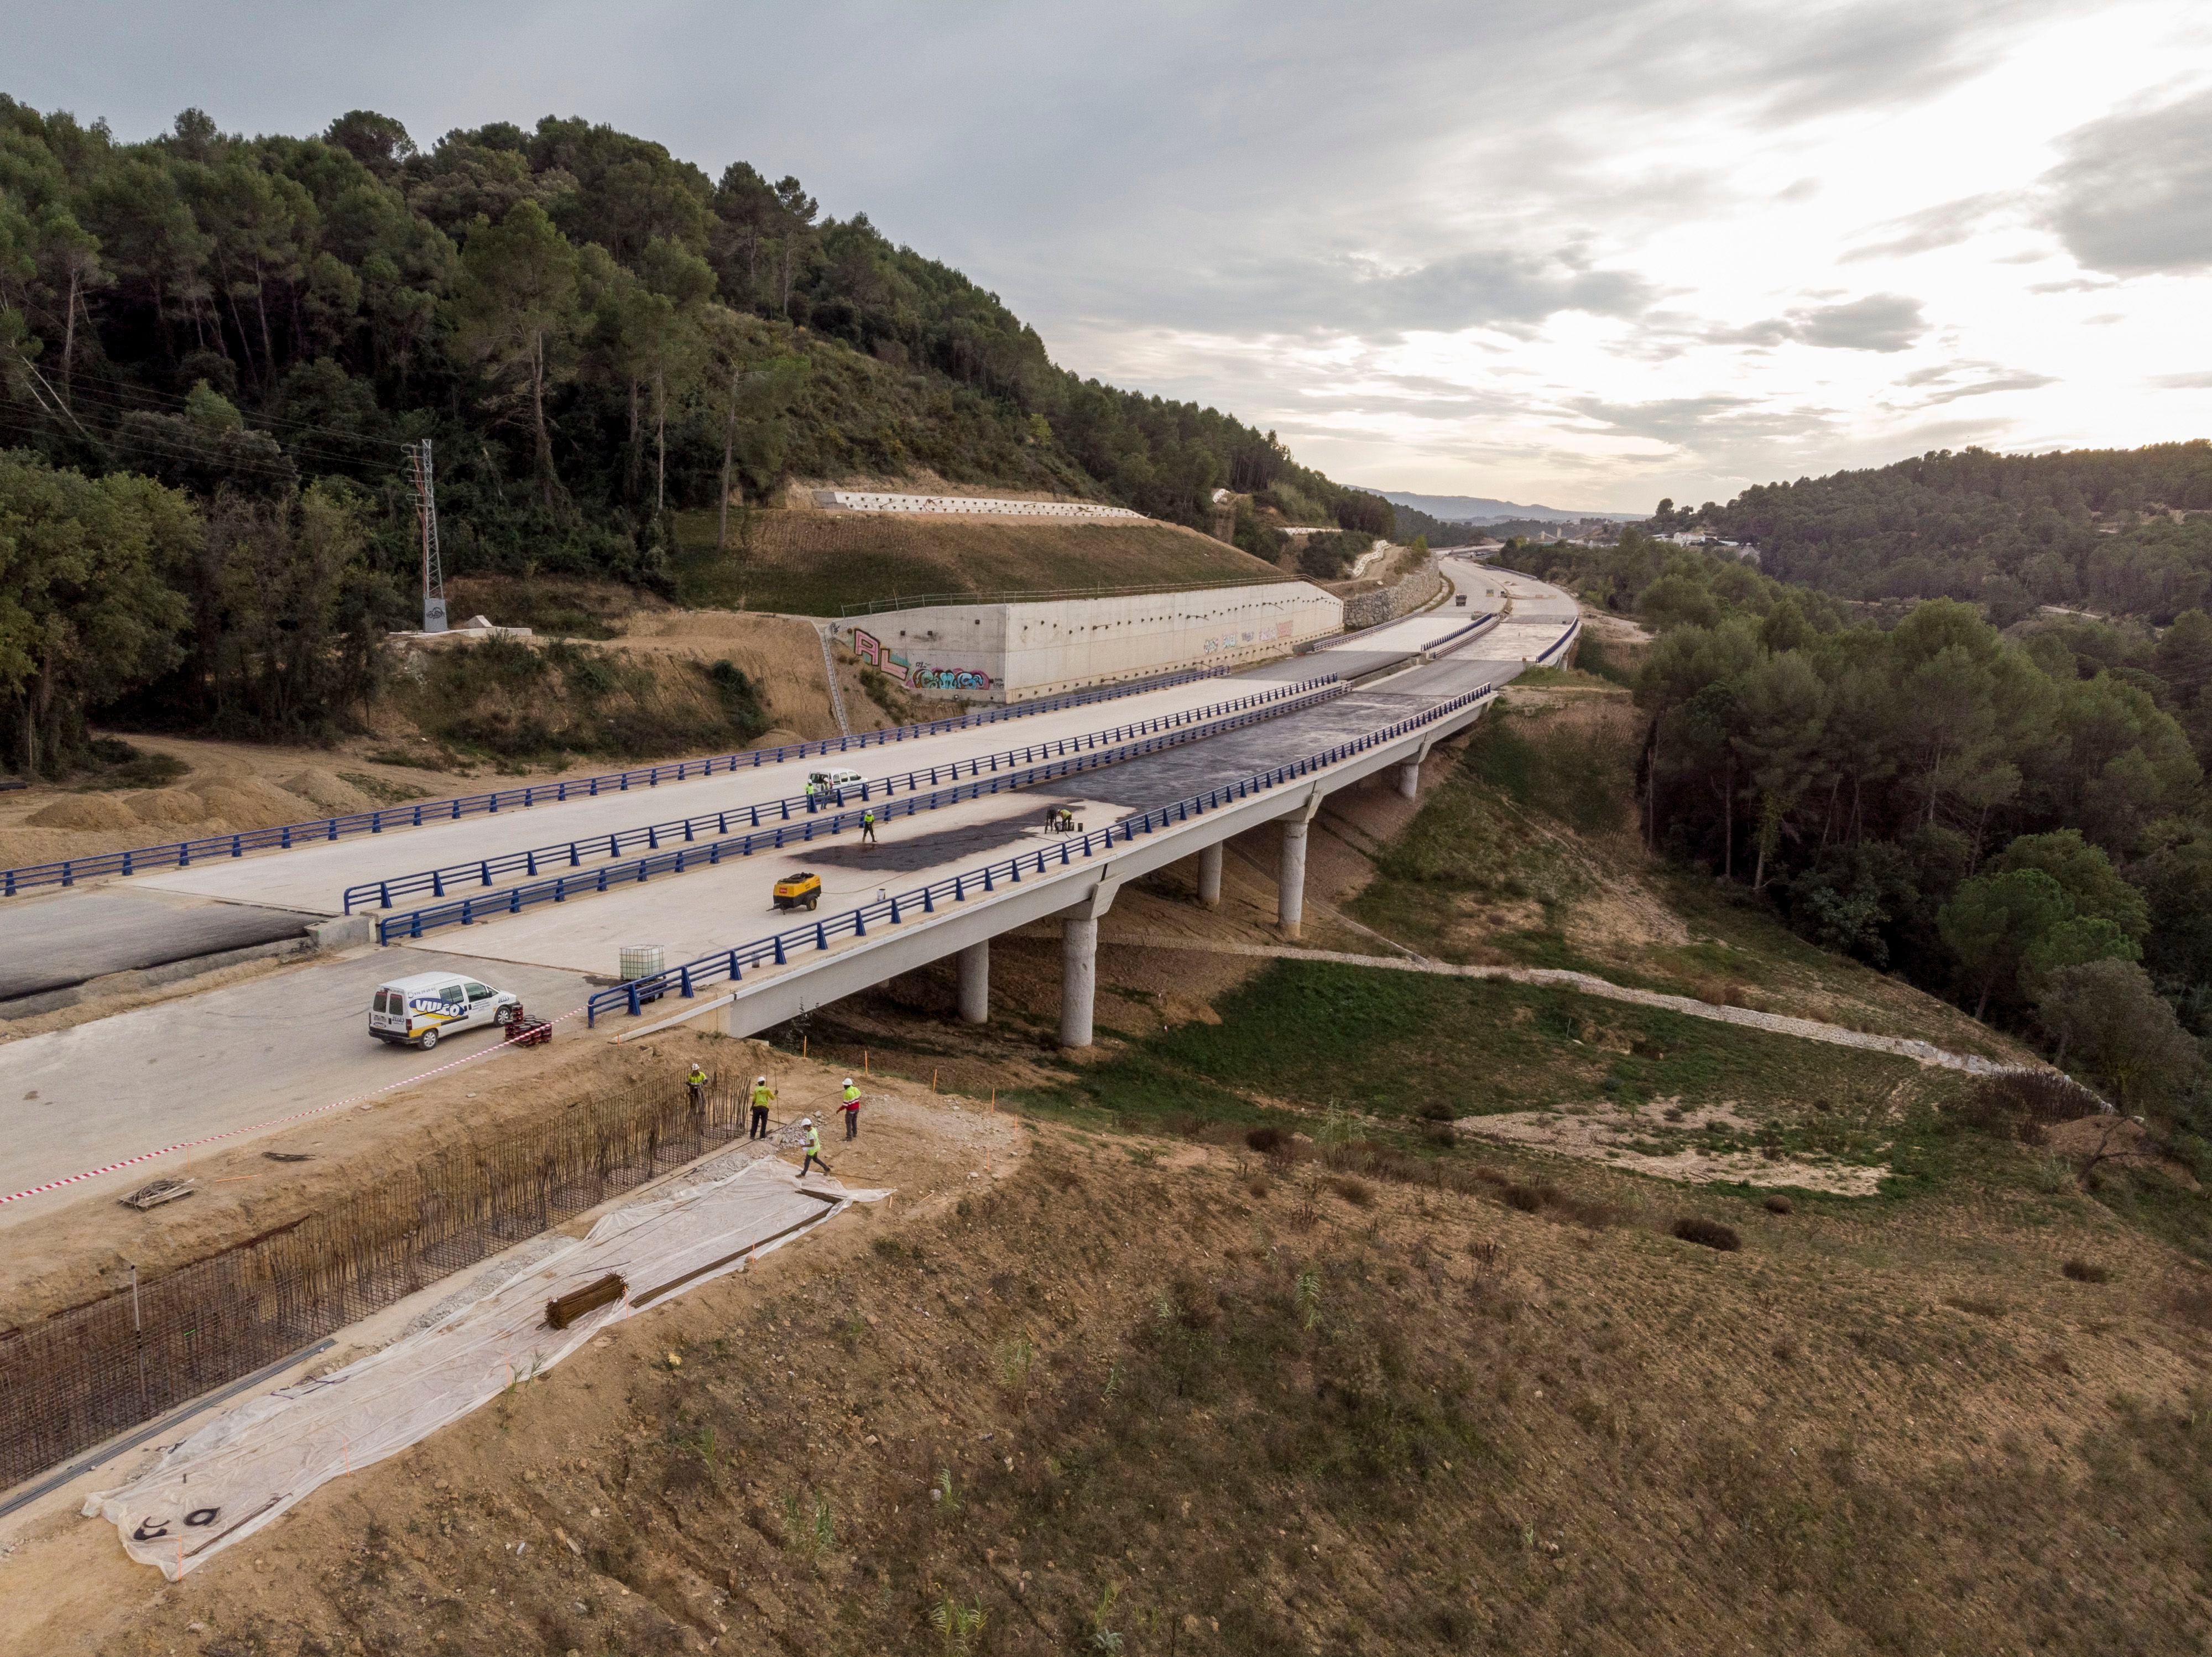
<svg viewBox="0 0 2212 1657"><path fill-rule="evenodd" d="M2044 173L2046 223L2115 277L2212 268L2212 88L2077 126Z"/></svg>

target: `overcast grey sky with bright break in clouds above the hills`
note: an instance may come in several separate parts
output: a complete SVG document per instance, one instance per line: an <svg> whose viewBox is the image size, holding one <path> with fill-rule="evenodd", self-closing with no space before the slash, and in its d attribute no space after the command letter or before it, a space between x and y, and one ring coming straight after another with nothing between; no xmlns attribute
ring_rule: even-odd
<svg viewBox="0 0 2212 1657"><path fill-rule="evenodd" d="M584 115L1347 482L1648 509L2212 434L2203 0L0 0L0 91Z"/></svg>

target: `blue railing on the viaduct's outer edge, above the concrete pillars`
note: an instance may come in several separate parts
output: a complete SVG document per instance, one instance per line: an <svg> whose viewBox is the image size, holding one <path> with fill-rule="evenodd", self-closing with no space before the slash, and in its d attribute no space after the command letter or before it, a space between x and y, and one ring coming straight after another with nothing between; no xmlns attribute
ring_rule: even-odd
<svg viewBox="0 0 2212 1657"><path fill-rule="evenodd" d="M714 953L699 956L681 967L668 967L666 971L650 973L646 978L633 978L615 989L602 989L586 1007L586 1022L597 1024L599 1013L611 1013L615 1009L628 1011L635 1018L646 1002L659 1000L668 993L697 996L703 984L743 982L745 967L785 967L799 951L814 949L818 953L830 949L834 938L865 938L869 925L896 927L916 916L936 914L938 903L967 903L971 894L995 892L1000 883L1020 885L1024 872L1031 878L1037 878L1051 874L1051 869L1066 869L1077 858L1110 852L1115 836L1119 836L1126 845L1139 834L1155 834L1170 823L1186 823L1192 816L1203 816L1206 812L1223 805L1234 805L1252 794L1281 788L1283 783L1296 781L1298 777L1307 777L1327 765L1336 765L1338 761L1352 759L1369 748L1396 741L1398 737L1420 730L1422 726L1431 726L1438 719L1447 719L1460 708L1482 701L1489 695L1491 686L1467 690L1449 701L1425 708L1409 719L1371 730L1365 737L1354 737L1352 741L1336 743L1318 754L1294 759L1287 765L1274 765L1272 770L1254 772L1241 781L1210 788L1203 794L1190 794L1188 799L1179 799L1170 805L1155 805L1150 812L1126 816L1104 830L1066 836L1051 847L1015 852L1011 858L1000 858L980 869L931 880L914 892L900 892L889 898L878 898L876 903L863 903L858 909L847 909L838 916L827 916L803 927L792 927L790 931L757 938L754 942L739 945L737 949L717 949Z"/></svg>

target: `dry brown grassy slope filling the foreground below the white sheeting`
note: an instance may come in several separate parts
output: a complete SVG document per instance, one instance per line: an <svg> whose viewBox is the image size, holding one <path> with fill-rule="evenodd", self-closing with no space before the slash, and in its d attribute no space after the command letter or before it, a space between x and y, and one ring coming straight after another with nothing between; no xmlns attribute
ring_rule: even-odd
<svg viewBox="0 0 2212 1657"><path fill-rule="evenodd" d="M1745 1212L1725 1254L1391 1181L1307 1219L1250 1153L1130 1148L1044 1128L75 1637L936 1653L956 1606L998 1657L2201 1648L2203 1334L2126 1283L2084 1327L2073 1208ZM86 1580L131 1571L102 1546Z"/></svg>

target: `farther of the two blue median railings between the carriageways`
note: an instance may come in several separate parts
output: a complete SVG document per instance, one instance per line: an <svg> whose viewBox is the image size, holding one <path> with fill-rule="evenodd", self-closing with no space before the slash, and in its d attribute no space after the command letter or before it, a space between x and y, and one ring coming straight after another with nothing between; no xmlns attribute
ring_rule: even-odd
<svg viewBox="0 0 2212 1657"><path fill-rule="evenodd" d="M739 827L763 827L772 823L790 823L794 816L810 816L825 805L843 807L847 799L872 801L876 792L891 796L898 785L905 783L907 792L920 788L936 788L947 781L960 781L960 777L980 777L984 772L998 772L1009 765L1031 765L1040 759L1055 759L1062 754L1088 752L1095 748L1110 748L1126 743L1135 737L1148 737L1155 730L1179 730L1183 726L1197 726L1208 719L1219 719L1223 715L1243 712L1245 708L1259 708L1290 697L1305 695L1325 684L1336 684L1336 675L1316 675L1314 679L1301 679L1298 684L1276 686L1270 690L1254 692L1250 697L1237 697L1234 701L1217 701L1206 708L1190 708L1186 712L1155 715L1152 719L1139 719L1126 726L1113 726L1110 730L1093 730L1077 737L1060 737L1055 741L1031 743L1029 748L1006 748L995 754L980 754L975 759L956 759L942 765L929 765L927 770L909 770L905 777L878 777L874 781L863 781L858 788L845 788L830 799L818 799L814 794L790 794L785 799L763 801L759 805L734 805L719 812L697 812L692 816L679 816L670 823L646 823L644 827L615 830L608 834L584 834L573 841L562 841L555 845L535 845L524 852L502 852L498 856L484 858L462 858L458 863L447 863L436 869L418 869L414 874L396 874L387 880L363 880L345 889L345 914L354 911L354 905L389 909L394 898L407 898L418 892L429 892L434 898L447 896L447 887L453 885L476 885L489 887L504 874L522 874L535 880L540 872L549 867L568 865L571 869L584 867L584 858L617 858L630 847L644 847L648 854L661 850L661 841L684 841L686 845L699 841L701 836L728 836L730 823L737 821Z"/></svg>

